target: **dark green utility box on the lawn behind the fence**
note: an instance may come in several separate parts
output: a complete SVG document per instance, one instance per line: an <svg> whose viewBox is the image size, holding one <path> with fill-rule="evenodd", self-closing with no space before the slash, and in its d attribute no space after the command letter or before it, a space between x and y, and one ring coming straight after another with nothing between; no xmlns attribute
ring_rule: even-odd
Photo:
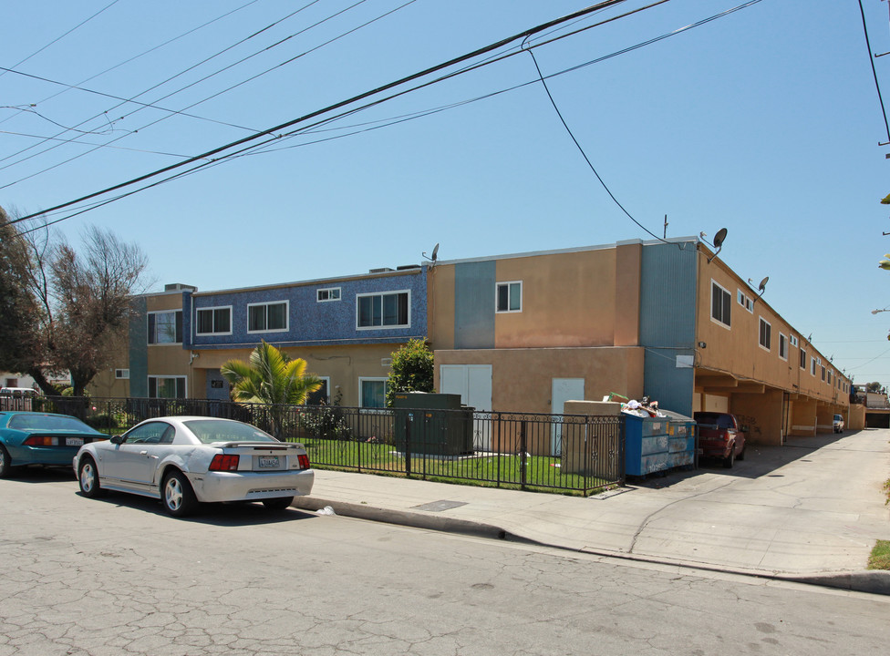
<svg viewBox="0 0 890 656"><path fill-rule="evenodd" d="M431 456L471 454L473 408L461 395L404 392L392 402L396 448Z"/></svg>

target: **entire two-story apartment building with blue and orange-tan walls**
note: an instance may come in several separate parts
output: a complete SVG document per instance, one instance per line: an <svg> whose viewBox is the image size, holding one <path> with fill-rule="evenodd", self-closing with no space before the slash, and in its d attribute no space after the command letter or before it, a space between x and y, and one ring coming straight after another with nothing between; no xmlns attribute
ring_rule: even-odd
<svg viewBox="0 0 890 656"><path fill-rule="evenodd" d="M849 415L849 379L695 238L212 292L171 285L136 306L129 354L94 394L228 399L220 367L265 340L322 378L316 398L379 407L391 354L426 337L437 389L483 411L646 395L682 415L741 415L768 444Z"/></svg>

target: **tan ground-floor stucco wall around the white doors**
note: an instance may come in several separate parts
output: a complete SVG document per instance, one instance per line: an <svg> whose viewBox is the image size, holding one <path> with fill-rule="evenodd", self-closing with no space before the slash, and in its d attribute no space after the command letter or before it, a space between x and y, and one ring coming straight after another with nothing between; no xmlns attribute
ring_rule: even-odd
<svg viewBox="0 0 890 656"><path fill-rule="evenodd" d="M492 409L502 412L552 412L554 378L585 379L585 398L576 401L601 401L610 392L643 395L642 348L436 351L435 359L437 389L442 364L491 364Z"/></svg>

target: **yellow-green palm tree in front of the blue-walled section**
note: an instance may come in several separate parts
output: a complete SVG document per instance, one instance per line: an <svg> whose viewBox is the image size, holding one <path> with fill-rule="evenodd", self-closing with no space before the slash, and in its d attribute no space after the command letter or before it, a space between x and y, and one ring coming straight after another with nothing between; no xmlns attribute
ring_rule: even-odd
<svg viewBox="0 0 890 656"><path fill-rule="evenodd" d="M322 385L316 375L306 374L305 368L303 358L291 360L263 341L251 353L249 362L229 360L220 373L232 385L235 401L268 406L272 434L280 437L287 406L305 404L306 396Z"/></svg>

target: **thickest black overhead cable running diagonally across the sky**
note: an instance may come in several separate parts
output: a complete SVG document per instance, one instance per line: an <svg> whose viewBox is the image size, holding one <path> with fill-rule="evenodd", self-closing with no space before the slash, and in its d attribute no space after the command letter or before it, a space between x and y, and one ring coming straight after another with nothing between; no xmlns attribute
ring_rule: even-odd
<svg viewBox="0 0 890 656"><path fill-rule="evenodd" d="M173 169L178 169L178 168L181 168L181 167L183 167L183 166L187 166L188 164L191 164L191 163L193 163L193 162L195 162L195 161L198 161L198 160L200 160L200 159L212 158L214 155L218 155L218 154L222 153L222 152L225 151L225 150L236 148L236 147L241 146L241 145L243 145L243 144L246 144L246 143L249 143L249 142L251 142L251 141L254 141L254 140L257 139L257 138L265 137L265 136L268 136L268 135L273 135L273 134L276 133L276 132L280 132L280 131L283 130L283 129L286 129L286 128L290 128L290 127L292 127L292 126L295 126L295 125L298 124L298 123L303 123L303 122L305 122L305 121L307 121L307 120L309 120L309 119L311 119L311 118L319 117L319 116L321 116L321 115L323 115L323 114L326 114L326 113L328 113L328 112L334 111L334 110L339 109L339 108L345 108L345 107L347 107L348 105L352 105L352 104L358 102L359 100L363 100L363 99L368 98L368 97L376 96L376 95L378 95L378 94L380 94L380 93L382 93L382 92L384 92L384 91L388 91L389 89L392 89L392 88L395 88L395 87L400 87L400 86L405 85L405 84L407 84L407 83L409 83L409 82L411 82L411 81L414 81L414 80L416 80L416 79L419 79L420 77L426 77L426 76L429 76L429 75L432 74L432 73L438 72L438 71L443 70L443 69L445 69L445 68L453 67L453 66L455 66L456 64L460 64L460 63L462 63L462 62L464 62L464 61L467 61L467 60L469 60L469 59L471 59L471 58L473 58L473 57L477 57L477 56L485 55L485 54L487 54L487 53L489 53L489 52L492 52L492 50L495 50L495 49L497 49L497 48L499 48L499 47L505 46L505 45L507 45L507 44L509 44L509 43L512 43L512 42L514 42L514 41L521 40L521 39L524 39L524 38L526 38L526 37L528 37L528 36L532 36L532 35L538 34L538 33L542 32L542 31L545 30L545 29L549 29L549 28L551 28L551 27L553 27L553 26L560 25L561 23L564 23L564 22L569 21L569 20L574 20L575 18L577 18L577 17L579 17L579 16L582 16L582 15L585 15L585 14L590 14L590 13L592 13L592 12L594 12L594 11L597 11L597 10L599 10L599 9L605 7L605 6L618 5L618 4L620 4L620 3L624 2L624 1L625 1L625 0L604 0L603 2L600 2L600 3L598 3L597 5L592 5L592 6L586 7L585 9L578 10L578 11L574 12L573 14L565 15L565 16L563 16L563 17L561 17L561 18L556 18L556 19L554 19L554 20L552 20L552 21L548 21L547 23L543 23L542 25L535 26L535 27L533 27L533 28L531 28L531 29L529 29L529 30L525 30L524 32L521 32L520 34L513 35L513 36L508 36L507 38L504 38L504 39L502 39L502 40L500 40L500 41L497 41L497 42L495 42L495 43L493 43L493 44L491 44L491 45L489 45L489 46L483 46L483 47L478 48L477 50L474 50L474 51L472 51L472 52L470 52L470 53L467 53L467 54L465 54L465 55L457 56L457 57L454 57L454 58L452 58L452 59L450 59L450 60L448 60L448 61L446 61L446 62L443 62L443 63L441 63L441 64L437 64L436 66L429 67L429 68L425 68L425 69L423 69L423 70L421 70L421 71L419 71L419 72L417 72L417 73L413 73L413 74L411 74L411 75L409 75L409 76L406 76L406 77L401 77L401 78L399 78L398 80L395 80L395 81L393 81L393 82L389 82L388 84L385 84L385 85L383 85L383 86L381 86L381 87L377 87L377 88L371 89L371 90L369 90L369 91L365 91L365 92L363 92L363 93L361 93L361 94L358 94L357 96L353 96L353 97L347 98L346 100L341 100L340 102L337 102L337 103L335 103L334 105L329 105L329 106L326 107L326 108L317 109L316 111L310 112L309 114L305 114L305 115L302 116L302 117L294 118L294 119L289 120L289 121L285 121L285 123L282 123L282 124L280 124L280 125L274 126L273 128L268 128L268 129L264 130L263 132L259 132L259 133L255 134L255 135L250 135L250 136L248 136L248 137L243 137L243 138L237 139L237 140L232 141L232 142L230 142L230 143L228 143L228 144L225 144L225 145L223 145L223 146L217 147L217 148L215 148L215 149L208 150L208 151L202 153L201 155L196 155L196 156L194 156L194 157L191 158L191 159L186 159L186 160L181 161L181 162L178 162L178 163L176 163L176 164L171 164L170 166L164 167L164 168L162 168L162 169L157 169L157 170L151 171L150 173L146 173L146 174L141 175L141 176L139 176L139 177L137 177L137 178L129 179L129 180L125 181L125 182L120 182L119 184L113 185L113 186L108 187L108 188L106 188L106 189L104 189L104 190L94 191L94 192L89 193L89 194L87 194L87 195L85 195L85 196L81 196L81 197L78 198L78 199L75 199L75 200L69 200L69 201L67 201L67 202L60 203L60 204L55 205L55 206L53 206L53 207L51 207L51 208L48 208L47 210L44 210L44 211L41 211L41 212L35 212L35 213L32 213L32 214L28 214L28 215L26 215L26 216L24 216L24 217L20 217L19 219L10 221L10 223L16 223L16 222L23 221L23 220L27 220L27 219L32 219L32 218L34 218L34 217L36 217L36 216L39 216L40 214L43 214L43 213L45 213L45 212L47 212L47 211L61 210L61 209L63 209L63 208L66 208L66 207L70 207L70 206L72 206L72 205L75 205L75 204L77 204L77 203L79 203L79 202L83 202L84 200L90 200L90 199L96 198L96 197L98 197L98 196L102 196L102 195L104 195L104 194L110 193L111 191L116 191L116 190L119 190L119 189L123 189L123 188L125 188L125 187L129 187L130 185L138 184L138 183L140 183L140 182L143 181L143 180L150 179L150 178L153 178L153 177L156 177L156 176L160 176L160 175L162 175L162 174L164 174L164 173L167 173L167 172L169 172L169 171L171 171L171 170L173 170Z"/></svg>

